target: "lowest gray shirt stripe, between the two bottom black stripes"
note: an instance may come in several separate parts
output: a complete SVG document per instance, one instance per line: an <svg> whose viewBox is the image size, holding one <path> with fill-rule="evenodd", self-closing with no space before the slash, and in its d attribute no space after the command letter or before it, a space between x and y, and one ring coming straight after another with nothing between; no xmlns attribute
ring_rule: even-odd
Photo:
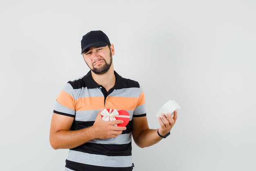
<svg viewBox="0 0 256 171"><path fill-rule="evenodd" d="M104 156L70 150L67 160L101 167L130 167L132 156Z"/></svg>

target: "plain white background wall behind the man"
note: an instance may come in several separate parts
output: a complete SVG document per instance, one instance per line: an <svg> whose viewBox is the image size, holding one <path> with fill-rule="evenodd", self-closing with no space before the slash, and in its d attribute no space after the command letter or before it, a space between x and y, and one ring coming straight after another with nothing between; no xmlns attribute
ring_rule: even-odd
<svg viewBox="0 0 256 171"><path fill-rule="evenodd" d="M114 68L139 81L150 128L168 100L171 136L141 149L134 171L256 170L255 0L1 0L0 168L63 171L49 144L55 99L89 69L81 38L102 30Z"/></svg>

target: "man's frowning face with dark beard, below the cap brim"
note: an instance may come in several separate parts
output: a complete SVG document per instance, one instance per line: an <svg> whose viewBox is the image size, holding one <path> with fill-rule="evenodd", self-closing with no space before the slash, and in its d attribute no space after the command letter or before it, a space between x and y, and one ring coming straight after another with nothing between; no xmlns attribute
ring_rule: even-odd
<svg viewBox="0 0 256 171"><path fill-rule="evenodd" d="M110 48L108 46L92 46L83 52L83 58L92 72L101 75L108 72L114 52L113 45L110 45Z"/></svg>

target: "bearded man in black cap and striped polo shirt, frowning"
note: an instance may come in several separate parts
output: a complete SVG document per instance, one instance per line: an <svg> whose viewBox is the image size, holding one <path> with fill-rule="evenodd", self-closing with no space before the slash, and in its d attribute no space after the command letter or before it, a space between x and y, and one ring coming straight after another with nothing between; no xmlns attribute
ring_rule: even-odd
<svg viewBox="0 0 256 171"><path fill-rule="evenodd" d="M69 81L56 99L50 129L53 149L70 149L66 171L131 171L131 136L143 148L170 134L177 119L159 117L159 129L149 129L144 92L138 82L124 79L114 70L114 45L102 31L90 31L81 40L83 58L90 72ZM126 110L123 120L104 121L104 109ZM106 110L104 110L106 112Z"/></svg>

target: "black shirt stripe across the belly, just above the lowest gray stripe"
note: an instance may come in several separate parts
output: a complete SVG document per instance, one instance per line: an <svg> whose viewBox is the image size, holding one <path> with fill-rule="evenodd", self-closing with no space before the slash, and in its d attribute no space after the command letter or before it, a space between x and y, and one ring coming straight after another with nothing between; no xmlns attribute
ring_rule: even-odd
<svg viewBox="0 0 256 171"><path fill-rule="evenodd" d="M132 142L128 144L95 144L86 142L83 145L75 147L71 150L81 151L90 154L99 154L105 156L131 156L132 155Z"/></svg>

